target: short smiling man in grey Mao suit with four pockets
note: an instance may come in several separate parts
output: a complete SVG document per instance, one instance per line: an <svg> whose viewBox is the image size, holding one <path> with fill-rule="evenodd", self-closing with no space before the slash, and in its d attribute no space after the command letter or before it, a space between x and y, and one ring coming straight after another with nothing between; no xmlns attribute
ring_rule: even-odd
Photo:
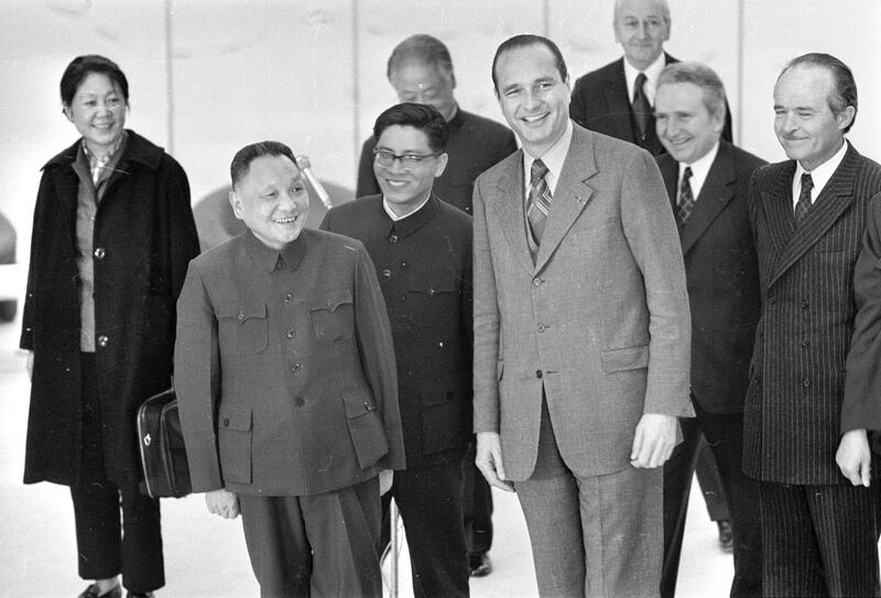
<svg viewBox="0 0 881 598"><path fill-rule="evenodd" d="M189 263L177 304L193 490L241 512L261 596L381 596L378 476L404 453L373 264L359 241L303 229L287 146L248 145L230 171L249 230Z"/></svg>

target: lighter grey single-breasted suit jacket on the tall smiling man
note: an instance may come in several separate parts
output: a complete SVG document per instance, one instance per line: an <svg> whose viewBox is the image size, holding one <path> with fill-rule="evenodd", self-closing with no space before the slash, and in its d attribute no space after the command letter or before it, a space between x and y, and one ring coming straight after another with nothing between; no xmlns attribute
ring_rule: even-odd
<svg viewBox="0 0 881 598"><path fill-rule="evenodd" d="M574 126L533 263L522 153L476 183L475 431L534 469L544 385L579 476L629 467L643 413L689 416L690 317L676 225L651 155Z"/></svg>

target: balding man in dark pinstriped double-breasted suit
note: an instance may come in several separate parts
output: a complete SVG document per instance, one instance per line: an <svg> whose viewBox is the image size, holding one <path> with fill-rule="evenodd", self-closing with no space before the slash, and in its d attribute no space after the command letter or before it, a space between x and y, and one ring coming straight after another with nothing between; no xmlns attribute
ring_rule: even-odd
<svg viewBox="0 0 881 598"><path fill-rule="evenodd" d="M866 423L842 417L857 304L853 268L881 166L845 140L850 69L793 59L774 87L790 160L750 185L762 289L744 411L743 469L759 480L766 596L878 596L879 483ZM877 400L877 398L873 398Z"/></svg>

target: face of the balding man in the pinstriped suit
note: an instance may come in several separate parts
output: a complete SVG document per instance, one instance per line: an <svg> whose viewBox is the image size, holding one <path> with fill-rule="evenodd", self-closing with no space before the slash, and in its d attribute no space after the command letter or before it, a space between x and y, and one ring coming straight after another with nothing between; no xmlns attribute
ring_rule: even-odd
<svg viewBox="0 0 881 598"><path fill-rule="evenodd" d="M796 65L774 86L774 132L791 160L813 171L829 160L845 142L845 129L856 109L833 112L831 74L820 66Z"/></svg>

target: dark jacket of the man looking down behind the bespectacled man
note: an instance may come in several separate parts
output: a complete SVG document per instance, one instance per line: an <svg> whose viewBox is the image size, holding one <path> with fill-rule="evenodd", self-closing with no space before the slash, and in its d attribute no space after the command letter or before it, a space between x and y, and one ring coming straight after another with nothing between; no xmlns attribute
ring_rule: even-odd
<svg viewBox="0 0 881 598"><path fill-rule="evenodd" d="M471 214L471 192L480 173L516 151L516 141L511 129L471 112L458 109L449 121L447 155L449 161L444 174L434 180L432 193ZM358 161L358 186L356 197L382 193L373 175L373 145L377 140L370 135L361 148Z"/></svg>

